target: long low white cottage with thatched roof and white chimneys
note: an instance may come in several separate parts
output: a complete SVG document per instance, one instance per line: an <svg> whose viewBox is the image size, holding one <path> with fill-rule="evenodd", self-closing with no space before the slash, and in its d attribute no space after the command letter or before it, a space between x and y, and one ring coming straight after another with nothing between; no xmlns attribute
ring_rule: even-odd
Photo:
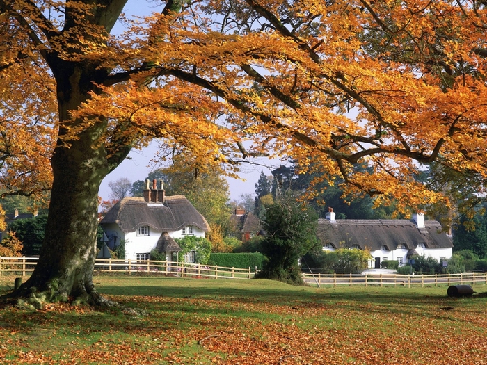
<svg viewBox="0 0 487 365"><path fill-rule="evenodd" d="M440 262L452 257L452 238L442 232L440 222L424 220L422 213L413 214L411 220L335 220L333 209L329 209L326 219L318 220L317 234L323 250L370 250L370 268L381 268L383 260L396 260L403 266L415 254L433 257Z"/></svg>

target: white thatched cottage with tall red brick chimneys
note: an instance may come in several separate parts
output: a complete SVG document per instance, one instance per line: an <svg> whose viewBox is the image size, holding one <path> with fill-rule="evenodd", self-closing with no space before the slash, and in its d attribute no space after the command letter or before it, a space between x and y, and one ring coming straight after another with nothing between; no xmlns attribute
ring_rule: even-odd
<svg viewBox="0 0 487 365"><path fill-rule="evenodd" d="M166 196L163 182L157 184L156 180L152 188L150 181L145 181L143 197L125 197L115 204L100 225L109 238L109 248L113 250L123 241L125 259L131 260L148 260L157 248L166 252L166 261L173 261L173 255L181 250L175 238L205 237L209 230L205 217L184 195ZM191 252L185 259L193 261Z"/></svg>

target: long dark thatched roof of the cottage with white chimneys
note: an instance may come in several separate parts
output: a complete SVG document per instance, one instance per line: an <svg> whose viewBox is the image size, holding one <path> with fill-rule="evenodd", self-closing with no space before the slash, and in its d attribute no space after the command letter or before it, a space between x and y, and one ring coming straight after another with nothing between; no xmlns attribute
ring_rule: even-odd
<svg viewBox="0 0 487 365"><path fill-rule="evenodd" d="M426 248L451 248L452 240L441 232L436 220L425 220L424 228L417 228L414 220L318 220L317 235L321 243L331 243L335 248L350 248L358 245L362 250L396 250L403 244L414 250L418 243Z"/></svg>

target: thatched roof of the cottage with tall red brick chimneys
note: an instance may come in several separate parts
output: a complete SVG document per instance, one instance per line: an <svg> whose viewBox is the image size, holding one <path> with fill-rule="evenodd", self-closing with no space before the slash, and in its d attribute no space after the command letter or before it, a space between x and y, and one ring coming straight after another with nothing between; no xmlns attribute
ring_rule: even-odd
<svg viewBox="0 0 487 365"><path fill-rule="evenodd" d="M124 197L100 223L116 223L126 233L145 225L160 232L179 231L188 225L209 230L208 222L184 195L166 197L164 204L147 203L143 197Z"/></svg>

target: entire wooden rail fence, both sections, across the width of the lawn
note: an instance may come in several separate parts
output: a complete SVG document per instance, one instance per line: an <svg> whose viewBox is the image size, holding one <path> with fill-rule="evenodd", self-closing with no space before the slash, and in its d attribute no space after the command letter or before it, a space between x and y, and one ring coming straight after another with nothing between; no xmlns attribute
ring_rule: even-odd
<svg viewBox="0 0 487 365"><path fill-rule="evenodd" d="M37 263L36 257L0 257L0 275L30 275ZM97 259L95 273L147 273L170 277L212 279L251 279L257 268L226 268L171 261L134 261ZM303 280L317 286L438 286L454 284L487 284L487 273L399 275L399 274L308 274Z"/></svg>

